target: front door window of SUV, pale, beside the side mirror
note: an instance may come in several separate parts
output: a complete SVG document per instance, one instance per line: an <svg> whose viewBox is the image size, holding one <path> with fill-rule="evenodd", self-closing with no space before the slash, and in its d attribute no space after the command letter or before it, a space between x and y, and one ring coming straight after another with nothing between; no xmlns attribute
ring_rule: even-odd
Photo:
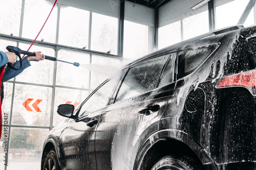
<svg viewBox="0 0 256 170"><path fill-rule="evenodd" d="M110 94L113 91L117 79L111 79L104 83L100 88L93 92L89 99L81 106L79 117L87 115L90 112L96 111L105 107L108 104Z"/></svg>

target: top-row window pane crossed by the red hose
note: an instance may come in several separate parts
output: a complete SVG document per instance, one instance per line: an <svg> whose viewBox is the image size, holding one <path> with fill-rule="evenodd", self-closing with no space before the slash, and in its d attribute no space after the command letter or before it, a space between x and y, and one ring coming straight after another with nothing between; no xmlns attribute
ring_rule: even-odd
<svg viewBox="0 0 256 170"><path fill-rule="evenodd" d="M44 25L53 4L45 0L25 1L24 21L22 37L35 39L42 26ZM53 9L45 27L42 29L37 40L46 42L56 42L56 28L57 28L57 5ZM26 49L28 50L28 49Z"/></svg>

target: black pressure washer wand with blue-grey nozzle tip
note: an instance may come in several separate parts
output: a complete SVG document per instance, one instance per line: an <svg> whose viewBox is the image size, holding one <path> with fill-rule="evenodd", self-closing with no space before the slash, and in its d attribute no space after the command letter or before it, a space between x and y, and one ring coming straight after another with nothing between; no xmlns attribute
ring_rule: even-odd
<svg viewBox="0 0 256 170"><path fill-rule="evenodd" d="M19 53L19 54L25 54L25 55L28 55L28 56L35 56L35 53L31 53L31 52L27 52L27 51L23 51L23 50L20 50L18 47L15 47L15 46L7 46L6 49L9 51L9 52L13 52L15 54ZM46 60L51 60L51 61L60 61L60 62L65 62L65 63L69 63L69 64L73 64L74 66L79 66L79 63L72 63L72 62L68 62L68 61L63 61L63 60L58 60L56 59L55 57L50 57L50 56L45 56Z"/></svg>

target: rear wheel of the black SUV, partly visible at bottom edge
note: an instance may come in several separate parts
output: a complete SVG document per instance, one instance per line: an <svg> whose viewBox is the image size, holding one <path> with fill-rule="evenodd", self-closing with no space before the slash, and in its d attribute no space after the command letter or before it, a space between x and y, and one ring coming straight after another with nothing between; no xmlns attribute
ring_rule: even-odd
<svg viewBox="0 0 256 170"><path fill-rule="evenodd" d="M203 170L200 163L194 159L181 155L168 155L161 158L151 170Z"/></svg>

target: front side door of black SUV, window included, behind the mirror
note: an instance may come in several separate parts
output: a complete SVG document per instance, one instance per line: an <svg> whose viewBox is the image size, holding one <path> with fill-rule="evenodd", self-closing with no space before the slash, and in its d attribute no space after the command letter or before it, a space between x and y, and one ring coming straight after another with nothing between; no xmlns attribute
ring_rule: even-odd
<svg viewBox="0 0 256 170"><path fill-rule="evenodd" d="M97 169L95 131L100 114L108 105L116 80L111 79L97 88L83 102L78 117L63 128L60 135L60 160L63 169Z"/></svg>

